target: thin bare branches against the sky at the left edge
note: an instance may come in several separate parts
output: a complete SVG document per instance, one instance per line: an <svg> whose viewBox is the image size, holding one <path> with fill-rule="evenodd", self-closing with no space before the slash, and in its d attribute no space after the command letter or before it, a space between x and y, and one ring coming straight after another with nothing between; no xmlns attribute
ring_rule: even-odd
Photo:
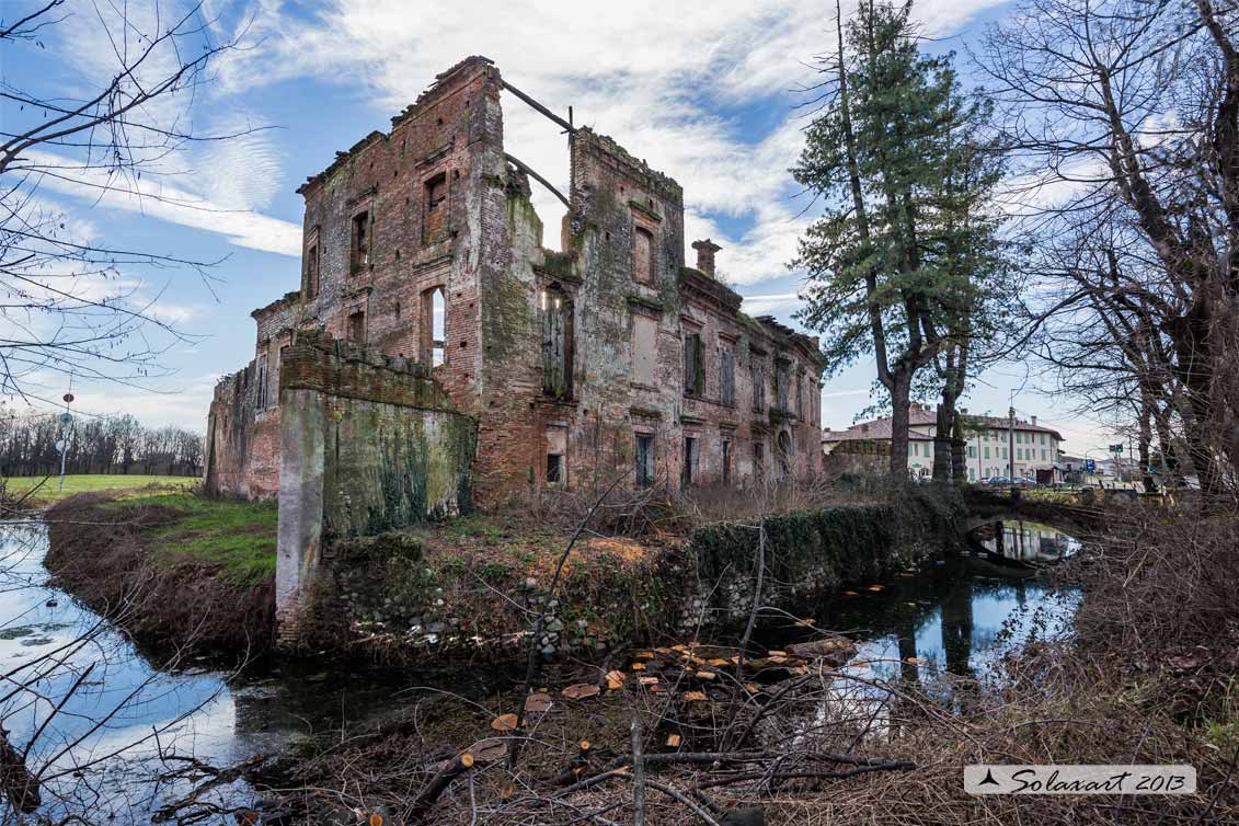
<svg viewBox="0 0 1239 826"><path fill-rule="evenodd" d="M5 4L4 59L41 50L73 16L110 45L110 68L74 89L0 83L0 391L25 395L36 374L135 383L162 372L160 357L185 338L156 310L130 267L188 270L209 280L209 261L123 249L90 238L51 206L48 189L100 202L160 201L151 186L198 141L191 113L209 68L237 48L217 40L201 5L165 19L130 4ZM32 87L40 84L31 84ZM180 206L193 206L181 203Z"/></svg>

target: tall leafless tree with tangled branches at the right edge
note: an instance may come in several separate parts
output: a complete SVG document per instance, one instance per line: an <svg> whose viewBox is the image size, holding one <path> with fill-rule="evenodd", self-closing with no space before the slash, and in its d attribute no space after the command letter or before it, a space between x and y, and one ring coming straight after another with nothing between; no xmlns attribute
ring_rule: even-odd
<svg viewBox="0 0 1239 826"><path fill-rule="evenodd" d="M1209 494L1239 472L1237 25L1209 0L1031 0L980 56L1027 162L1030 232L1057 248L1033 320L1088 317L1078 354L1108 346L1144 388L1130 421L1171 404Z"/></svg>

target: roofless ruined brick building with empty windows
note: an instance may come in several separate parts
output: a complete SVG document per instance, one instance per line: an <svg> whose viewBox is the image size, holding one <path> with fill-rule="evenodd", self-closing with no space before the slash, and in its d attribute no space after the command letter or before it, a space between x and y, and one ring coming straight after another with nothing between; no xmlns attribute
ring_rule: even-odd
<svg viewBox="0 0 1239 826"><path fill-rule="evenodd" d="M567 131L563 251L544 248L530 204L540 176L504 152L504 90ZM313 425L326 433L315 462L328 464L349 461L332 433L356 410L339 400L377 394L392 410L470 417L470 495L483 503L618 473L699 485L820 469L817 341L742 313L709 239L685 266L674 180L512 89L491 61L440 74L389 133L339 152L299 192L301 285L253 312L254 360L216 390L209 487L266 497L300 472L285 462L281 482L281 451L304 442L295 391L330 396ZM384 410L374 428L390 425ZM354 462L348 474L380 472Z"/></svg>

